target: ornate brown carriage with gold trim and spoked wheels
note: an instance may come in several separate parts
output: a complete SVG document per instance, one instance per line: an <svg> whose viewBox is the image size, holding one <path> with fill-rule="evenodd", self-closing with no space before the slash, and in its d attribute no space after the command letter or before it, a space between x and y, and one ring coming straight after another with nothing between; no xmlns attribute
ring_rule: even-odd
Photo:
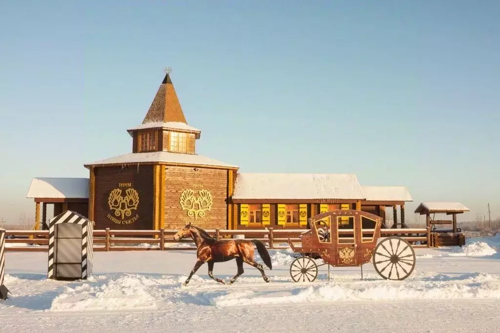
<svg viewBox="0 0 500 333"><path fill-rule="evenodd" d="M380 238L382 220L360 210L331 210L308 219L310 229L301 234L301 246L288 244L301 255L290 264L290 276L298 282L316 279L318 267L361 266L370 259L375 271L384 279L402 280L415 268L415 251L411 244L397 236ZM321 257L317 264L314 257ZM328 266L329 269L329 266ZM328 274L329 277L329 274Z"/></svg>

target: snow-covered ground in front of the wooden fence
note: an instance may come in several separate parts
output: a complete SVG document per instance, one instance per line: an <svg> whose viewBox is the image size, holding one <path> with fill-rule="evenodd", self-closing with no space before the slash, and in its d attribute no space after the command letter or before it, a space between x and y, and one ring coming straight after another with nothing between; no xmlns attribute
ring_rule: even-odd
<svg viewBox="0 0 500 333"><path fill-rule="evenodd" d="M0 332L500 330L498 234L462 248L415 249L416 267L403 281L383 280L368 263L363 280L359 267L335 267L328 281L322 266L315 281L295 283L294 253L269 252L269 283L244 264L234 284L219 284L203 265L187 286L190 250L95 252L83 281L46 279L44 252L7 252L12 295L0 300ZM213 272L228 281L236 263L216 263Z"/></svg>

